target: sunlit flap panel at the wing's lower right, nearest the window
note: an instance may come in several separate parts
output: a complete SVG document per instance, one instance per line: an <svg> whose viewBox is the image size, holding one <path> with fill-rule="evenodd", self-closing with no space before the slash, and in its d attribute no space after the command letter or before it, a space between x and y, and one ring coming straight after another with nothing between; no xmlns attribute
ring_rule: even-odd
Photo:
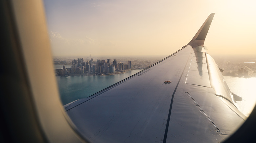
<svg viewBox="0 0 256 143"><path fill-rule="evenodd" d="M244 119L240 118L228 106L221 103L215 94L205 92L196 87L191 90L193 90L189 92L191 97L198 103L223 135L232 135L244 122Z"/></svg>

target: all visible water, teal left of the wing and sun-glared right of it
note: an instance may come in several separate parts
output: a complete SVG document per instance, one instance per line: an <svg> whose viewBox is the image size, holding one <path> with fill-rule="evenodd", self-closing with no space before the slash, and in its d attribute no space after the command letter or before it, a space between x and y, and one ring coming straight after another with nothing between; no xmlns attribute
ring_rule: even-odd
<svg viewBox="0 0 256 143"><path fill-rule="evenodd" d="M63 65L54 65L55 69ZM131 70L125 73L105 76L57 76L57 82L61 101L65 105L77 99L86 98L94 93L109 87L141 70ZM240 110L249 115L256 103L256 78L239 78L224 76L230 90L241 96L243 100L238 102Z"/></svg>

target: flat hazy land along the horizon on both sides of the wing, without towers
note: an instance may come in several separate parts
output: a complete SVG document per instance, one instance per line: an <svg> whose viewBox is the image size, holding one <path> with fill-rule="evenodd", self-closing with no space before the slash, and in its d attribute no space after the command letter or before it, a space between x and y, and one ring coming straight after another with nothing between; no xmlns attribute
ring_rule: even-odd
<svg viewBox="0 0 256 143"><path fill-rule="evenodd" d="M254 55L211 55L211 56L214 58L218 67L224 70L222 74L225 76L244 77L244 78L256 77L256 56ZM95 60L111 58L111 60L116 59L118 62L124 62L124 63L127 63L128 61L132 61L131 70L142 70L157 63L158 61L160 61L165 57L166 56L134 56L134 57L131 56L131 57L93 57L93 58ZM55 57L53 59L53 63L70 67L73 59L74 57ZM85 57L84 61L90 60L90 59L91 59L90 57ZM104 75L113 75L113 74L118 74L123 72L125 72L125 70L117 71L115 73L104 74ZM77 74L73 74L73 75L77 75ZM82 75L91 75L91 74L86 73ZM96 74L93 74L93 75L96 75Z"/></svg>

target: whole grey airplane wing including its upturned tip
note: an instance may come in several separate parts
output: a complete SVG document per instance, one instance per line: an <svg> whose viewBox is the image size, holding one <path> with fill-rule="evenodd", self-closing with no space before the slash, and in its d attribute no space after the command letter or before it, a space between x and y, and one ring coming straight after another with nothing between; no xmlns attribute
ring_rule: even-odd
<svg viewBox="0 0 256 143"><path fill-rule="evenodd" d="M246 117L203 44L214 13L194 38L158 63L65 105L91 142L219 142Z"/></svg>

